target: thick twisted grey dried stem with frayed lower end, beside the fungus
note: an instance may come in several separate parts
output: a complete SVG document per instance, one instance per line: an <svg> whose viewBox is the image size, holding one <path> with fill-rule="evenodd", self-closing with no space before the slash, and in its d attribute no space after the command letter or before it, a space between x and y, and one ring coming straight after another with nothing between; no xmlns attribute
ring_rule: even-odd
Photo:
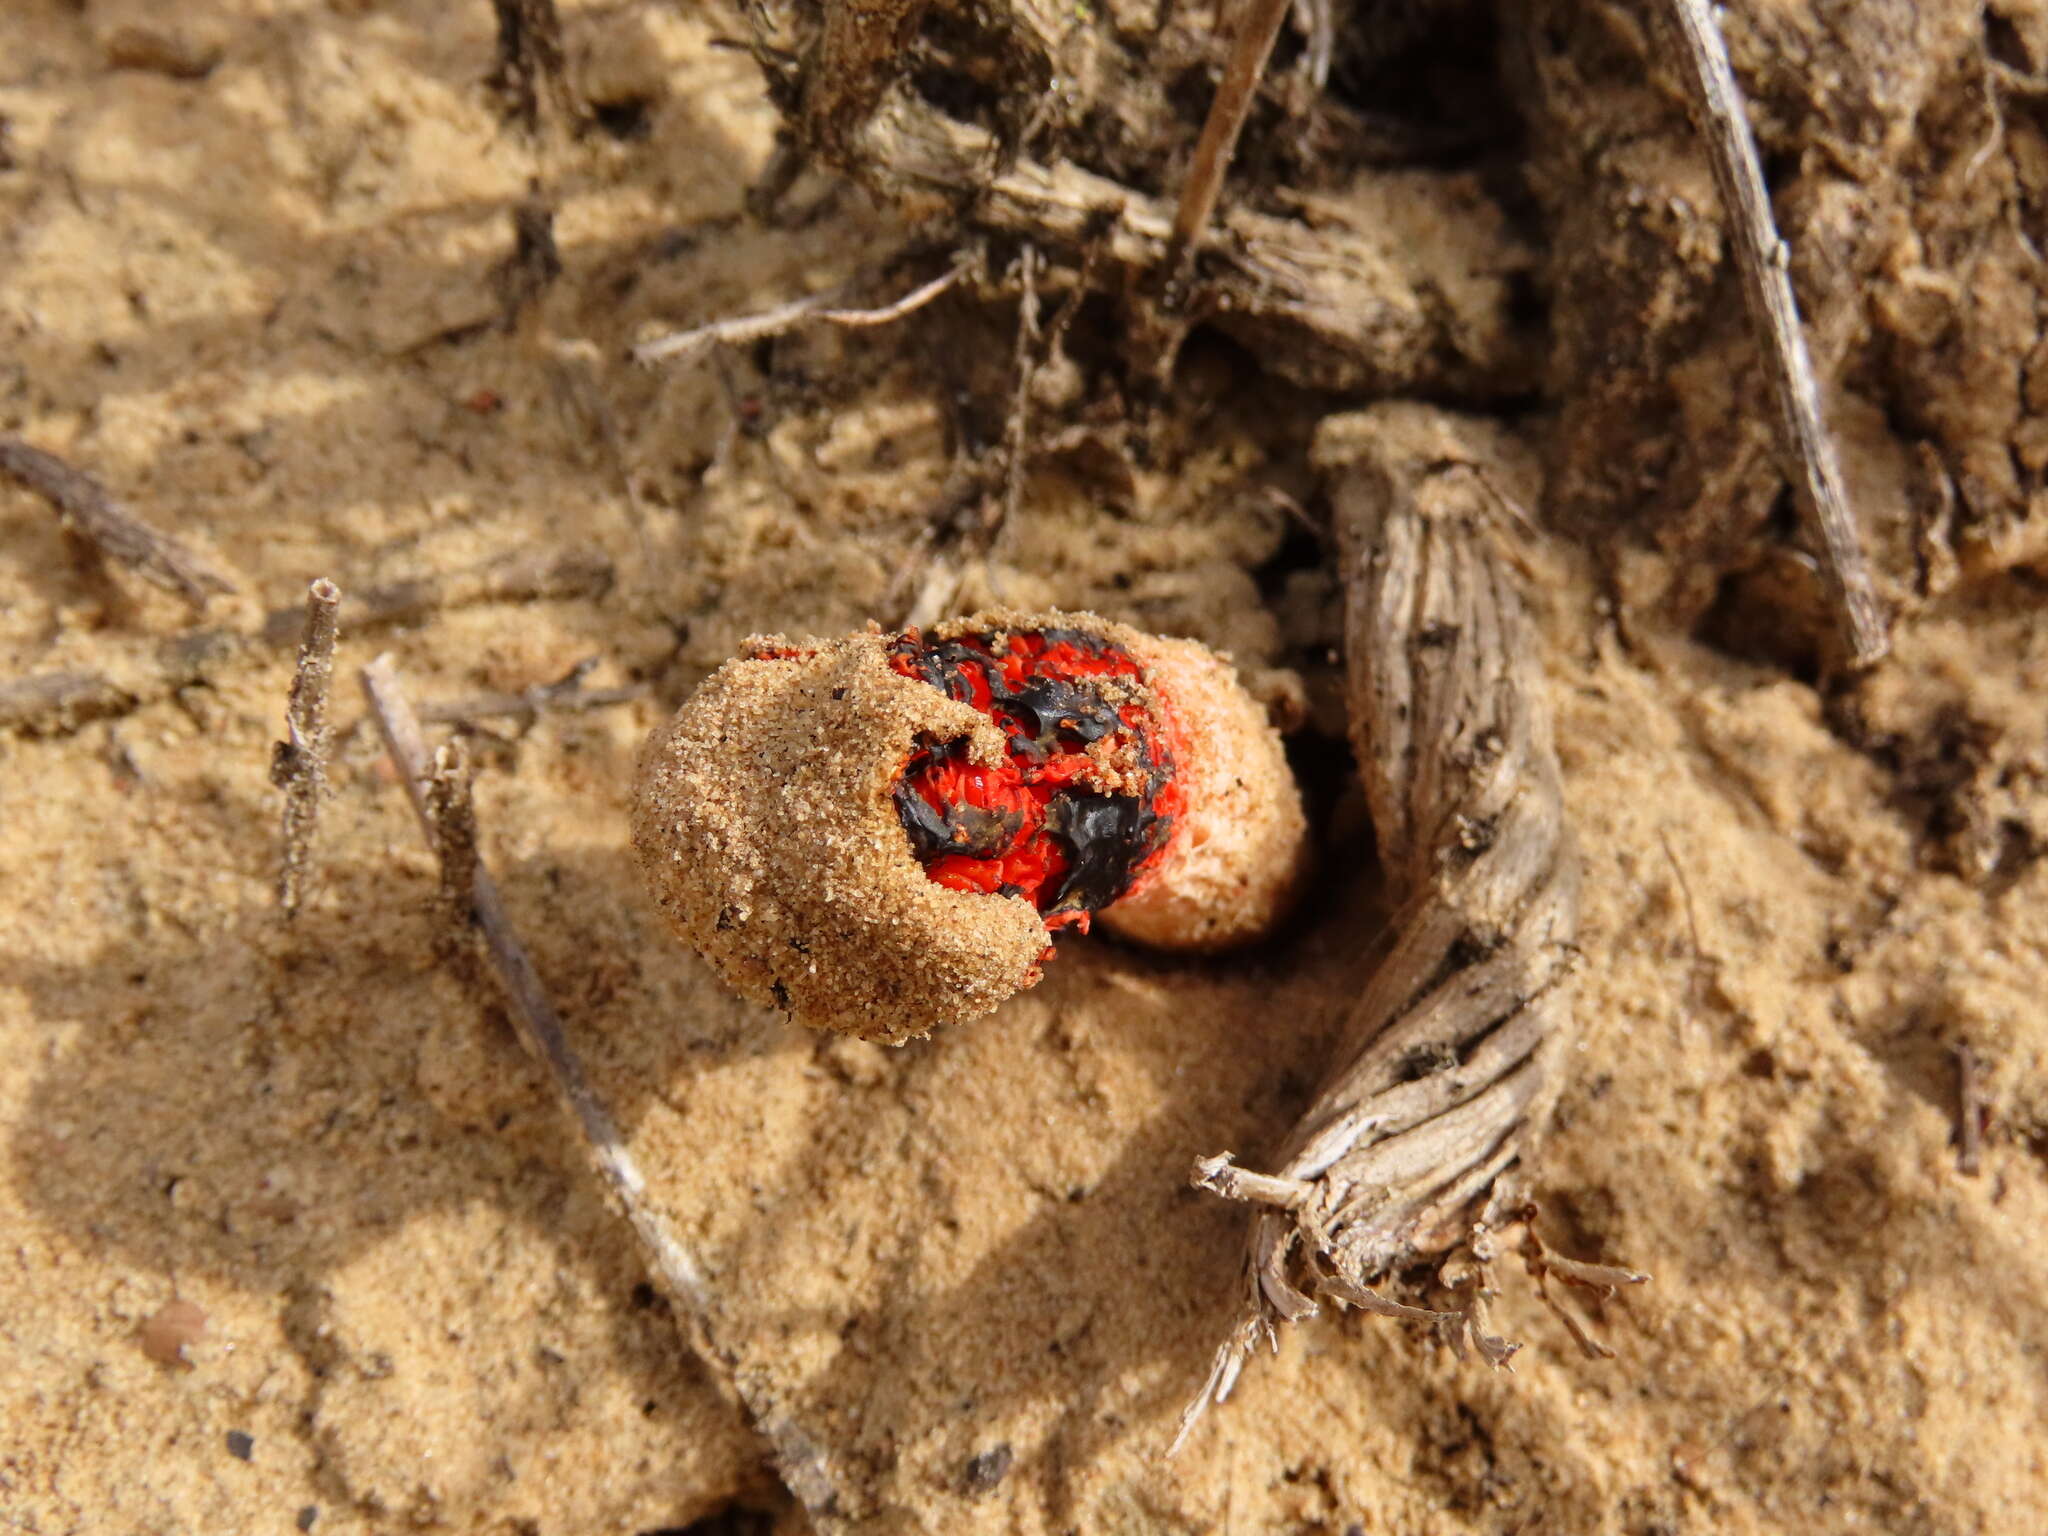
<svg viewBox="0 0 2048 1536"><path fill-rule="evenodd" d="M1546 1120L1573 1032L1579 862L1536 633L1489 528L1485 428L1421 406L1358 420L1364 449L1335 483L1350 715L1399 920L1278 1167L1194 1167L1260 1210L1243 1319L1182 1438L1317 1294L1389 1313L1376 1276L1473 1233ZM1487 1360L1511 1354L1470 1307L1434 1317Z"/></svg>

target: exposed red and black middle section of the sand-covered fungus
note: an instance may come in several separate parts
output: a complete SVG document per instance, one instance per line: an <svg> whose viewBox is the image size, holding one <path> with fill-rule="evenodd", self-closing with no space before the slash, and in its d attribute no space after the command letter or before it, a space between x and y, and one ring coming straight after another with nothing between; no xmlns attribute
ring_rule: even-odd
<svg viewBox="0 0 2048 1536"><path fill-rule="evenodd" d="M1049 930L1085 932L1087 913L1159 862L1184 811L1176 725L1120 645L1081 629L942 641L909 631L889 664L1004 733L995 768L969 762L965 741L934 739L903 764L897 817L936 883L1022 895Z"/></svg>

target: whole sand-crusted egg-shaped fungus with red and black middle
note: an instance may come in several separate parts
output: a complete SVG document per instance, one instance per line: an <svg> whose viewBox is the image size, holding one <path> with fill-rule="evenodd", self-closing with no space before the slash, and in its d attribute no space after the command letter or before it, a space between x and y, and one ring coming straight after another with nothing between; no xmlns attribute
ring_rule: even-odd
<svg viewBox="0 0 2048 1536"><path fill-rule="evenodd" d="M1163 948L1264 936L1305 821L1214 651L991 612L750 641L649 739L633 842L741 995L901 1040L1030 987L1096 913Z"/></svg>

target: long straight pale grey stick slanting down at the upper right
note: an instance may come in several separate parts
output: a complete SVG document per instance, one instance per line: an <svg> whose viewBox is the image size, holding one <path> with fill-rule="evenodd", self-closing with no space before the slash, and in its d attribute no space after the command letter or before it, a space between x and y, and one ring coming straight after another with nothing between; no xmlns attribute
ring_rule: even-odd
<svg viewBox="0 0 2048 1536"><path fill-rule="evenodd" d="M1673 39L1686 94L1714 166L1714 184L1733 225L1743 301L1763 344L1778 457L1792 481L1800 516L1821 545L1821 571L1849 657L1855 666L1870 666L1890 649L1890 637L1841 481L1835 440L1821 418L1821 389L1800 330L1798 301L1792 297L1790 258L1772 219L1757 141L1743 113L1735 70L1729 68L1729 49L1706 0L1657 0L1657 16Z"/></svg>

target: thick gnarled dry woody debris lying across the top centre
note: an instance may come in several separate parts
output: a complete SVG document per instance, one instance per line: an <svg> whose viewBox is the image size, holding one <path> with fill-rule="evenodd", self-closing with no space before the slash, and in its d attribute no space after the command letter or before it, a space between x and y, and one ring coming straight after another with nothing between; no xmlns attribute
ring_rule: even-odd
<svg viewBox="0 0 2048 1536"><path fill-rule="evenodd" d="M1288 211L1229 205L1214 236L1190 248L1196 229L1182 225L1206 225L1202 205L1229 162L1229 125L1257 80L1255 43L1270 37L1272 10L1241 33L1247 51L1229 72L1206 170L1186 201L1147 184L1180 180L1174 164L1200 129L1165 88L1167 66L1229 57L1206 12L1155 20L1151 39L1036 2L985 20L905 0L774 0L745 14L770 92L817 160L913 221L1040 246L1061 287L1100 246L1098 283L1128 295L1145 371L1163 373L1188 328L1206 322L1317 387L1499 395L1526 385L1532 338L1507 313L1509 274L1497 258L1513 242L1479 199L1466 203L1470 217L1407 227L1395 180L1360 168L1350 186L1278 199ZM913 76L920 29L948 41ZM989 80L1001 82L993 111L942 104L983 102ZM1192 268L1178 272L1190 256Z"/></svg>

